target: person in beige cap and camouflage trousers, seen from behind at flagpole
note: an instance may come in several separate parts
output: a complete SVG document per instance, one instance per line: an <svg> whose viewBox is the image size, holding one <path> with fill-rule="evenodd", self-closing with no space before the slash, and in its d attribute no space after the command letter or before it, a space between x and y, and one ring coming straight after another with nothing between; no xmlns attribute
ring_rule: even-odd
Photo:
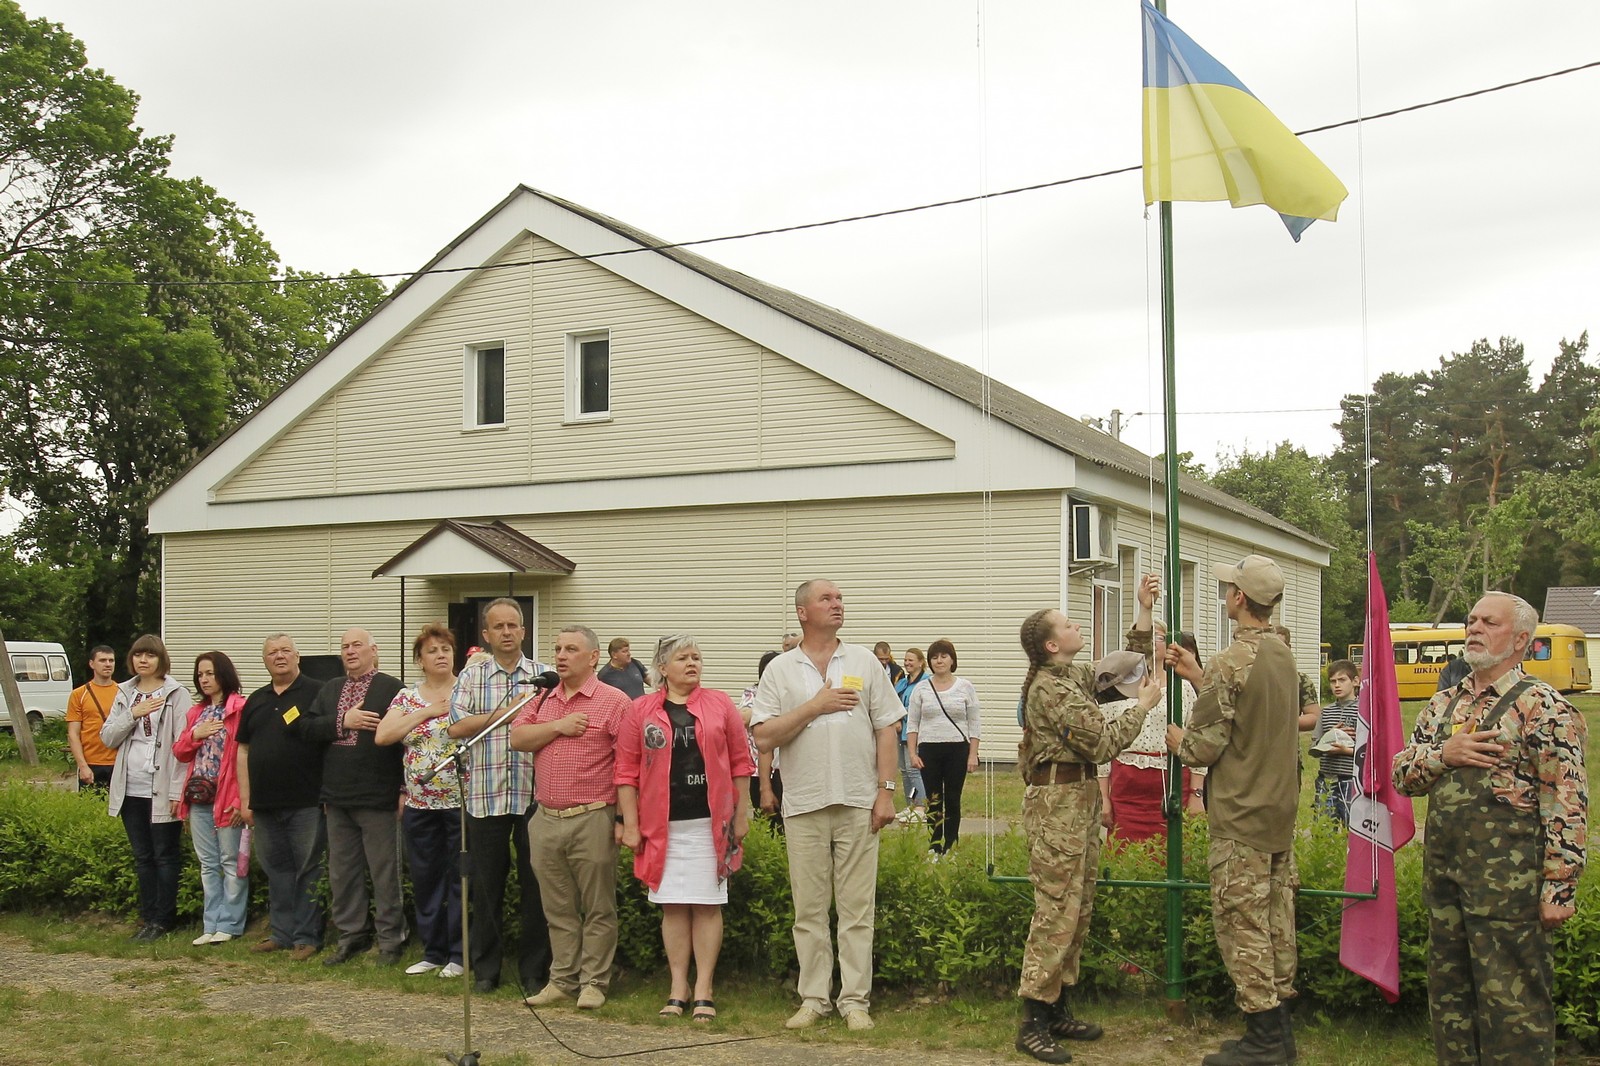
<svg viewBox="0 0 1600 1066"><path fill-rule="evenodd" d="M1294 810L1299 797L1299 677L1272 632L1283 571L1266 555L1216 567L1234 642L1202 675L1194 655L1171 645L1166 661L1200 685L1189 728L1166 727L1166 747L1186 765L1211 767L1211 924L1234 980L1246 1032L1205 1066L1294 1061L1288 999L1294 996Z"/></svg>

